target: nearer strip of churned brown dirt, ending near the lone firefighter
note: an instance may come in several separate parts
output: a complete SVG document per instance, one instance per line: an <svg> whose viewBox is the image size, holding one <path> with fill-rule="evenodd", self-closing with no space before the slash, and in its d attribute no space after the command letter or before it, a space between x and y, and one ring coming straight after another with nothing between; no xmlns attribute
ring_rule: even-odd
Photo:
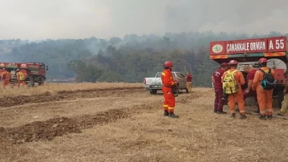
<svg viewBox="0 0 288 162"><path fill-rule="evenodd" d="M51 141L56 136L65 134L82 133L81 129L89 129L98 124L108 124L118 119L132 117L133 114L149 112L151 109L159 109L161 102L140 104L130 108L110 109L93 115L80 117L59 117L46 121L34 121L22 126L4 128L0 127L0 144L23 144L32 141Z"/></svg>

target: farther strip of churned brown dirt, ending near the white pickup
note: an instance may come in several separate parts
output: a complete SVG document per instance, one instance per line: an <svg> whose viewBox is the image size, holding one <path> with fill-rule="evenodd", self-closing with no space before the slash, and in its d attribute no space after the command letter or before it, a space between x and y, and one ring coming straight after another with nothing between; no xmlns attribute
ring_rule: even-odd
<svg viewBox="0 0 288 162"><path fill-rule="evenodd" d="M75 90L75 91L60 91L55 94L50 92L45 92L40 95L18 95L13 97L1 97L0 103L1 107L12 107L20 104L28 103L40 103L40 102L51 102L51 101L61 101L76 98L93 98L93 97L105 97L114 95L117 93L129 94L132 92L143 92L143 87L117 87L117 88L107 88L107 89L90 89L90 90Z"/></svg>

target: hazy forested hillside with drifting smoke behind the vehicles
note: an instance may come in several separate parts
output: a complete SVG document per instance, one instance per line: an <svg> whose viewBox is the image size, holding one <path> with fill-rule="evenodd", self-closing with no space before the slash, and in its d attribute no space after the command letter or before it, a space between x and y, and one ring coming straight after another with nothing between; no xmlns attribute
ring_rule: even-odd
<svg viewBox="0 0 288 162"><path fill-rule="evenodd" d="M79 82L142 82L163 70L166 60L174 70L193 73L193 85L210 86L218 68L209 59L210 41L282 36L277 32L247 36L235 33L166 33L165 36L127 35L124 38L86 38L28 42L0 41L0 59L9 62L36 61L49 65L48 78L76 77Z"/></svg>

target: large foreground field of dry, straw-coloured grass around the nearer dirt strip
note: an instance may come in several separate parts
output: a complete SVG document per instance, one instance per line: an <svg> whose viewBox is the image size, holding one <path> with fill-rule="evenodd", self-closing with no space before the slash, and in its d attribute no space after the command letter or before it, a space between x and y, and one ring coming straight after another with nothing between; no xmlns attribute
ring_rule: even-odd
<svg viewBox="0 0 288 162"><path fill-rule="evenodd" d="M239 119L239 114L236 119L231 119L228 114L213 114L213 97L213 91L207 88L193 88L193 93L179 95L176 97L179 119L162 117L163 96L145 91L124 97L77 99L1 109L3 117L6 117L1 121L3 126L18 126L31 122L29 112L41 114L43 119L38 120L46 120L54 115L81 117L108 109L127 108L129 112L135 105L143 105L136 107L139 111L131 117L95 125L82 130L82 134L58 136L53 141L2 145L0 159L60 162L288 161L287 121L261 121L252 115ZM23 117L19 114L15 117L14 110ZM255 110L255 107L248 110ZM228 111L227 107L225 111ZM5 121L9 117L11 121Z"/></svg>

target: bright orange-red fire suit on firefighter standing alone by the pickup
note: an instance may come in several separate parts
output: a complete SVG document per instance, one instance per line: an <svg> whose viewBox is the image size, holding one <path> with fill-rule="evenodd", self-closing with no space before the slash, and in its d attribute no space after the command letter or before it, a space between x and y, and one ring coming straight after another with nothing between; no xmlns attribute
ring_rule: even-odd
<svg viewBox="0 0 288 162"><path fill-rule="evenodd" d="M172 92L172 85L175 85L171 70L166 69L161 73L162 91L164 94L163 108L168 112L174 112L175 97Z"/></svg>

